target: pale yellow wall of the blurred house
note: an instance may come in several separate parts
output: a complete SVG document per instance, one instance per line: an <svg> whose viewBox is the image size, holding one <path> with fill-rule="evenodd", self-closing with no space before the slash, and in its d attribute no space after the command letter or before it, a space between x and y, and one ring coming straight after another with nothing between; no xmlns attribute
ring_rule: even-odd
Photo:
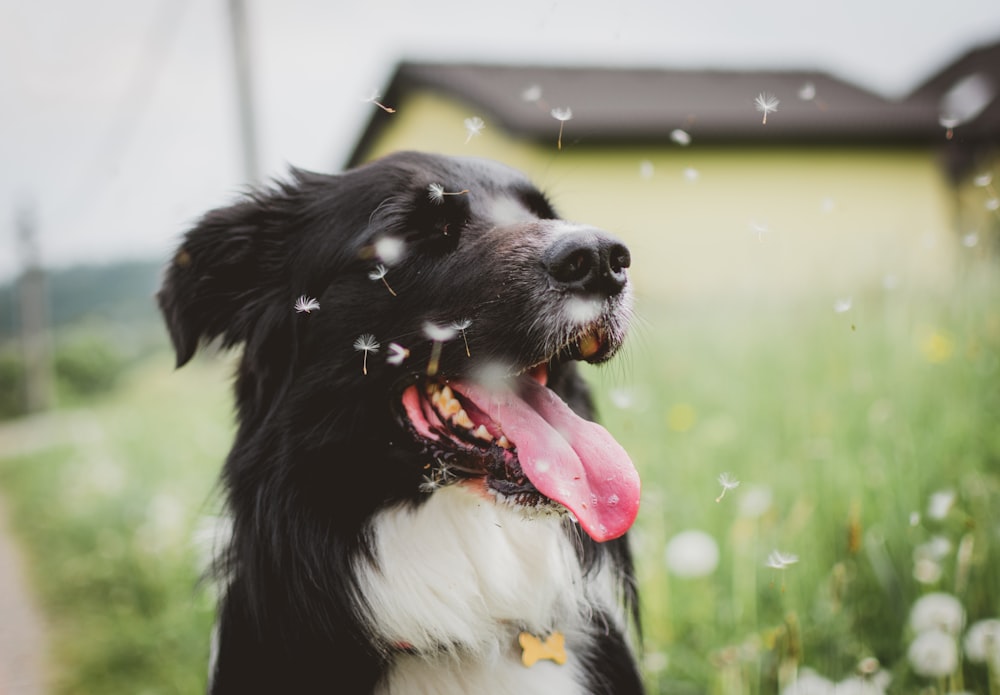
<svg viewBox="0 0 1000 695"><path fill-rule="evenodd" d="M955 194L928 151L718 148L697 140L593 148L573 143L573 121L560 151L554 119L550 145L518 141L489 121L466 142L463 121L474 115L486 118L415 95L399 105L372 155L419 149L523 170L564 217L628 243L640 295L849 297L881 287L886 276L903 287L951 279Z"/></svg>

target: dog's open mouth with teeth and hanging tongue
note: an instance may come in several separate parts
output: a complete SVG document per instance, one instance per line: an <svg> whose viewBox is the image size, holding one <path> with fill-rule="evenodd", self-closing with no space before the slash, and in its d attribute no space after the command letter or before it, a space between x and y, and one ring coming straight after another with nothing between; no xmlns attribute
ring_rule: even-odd
<svg viewBox="0 0 1000 695"><path fill-rule="evenodd" d="M635 467L606 429L547 387L552 360L599 361L610 352L595 329L515 377L408 386L402 410L433 459L425 489L478 485L525 508L569 510L598 542L624 534L639 507Z"/></svg>

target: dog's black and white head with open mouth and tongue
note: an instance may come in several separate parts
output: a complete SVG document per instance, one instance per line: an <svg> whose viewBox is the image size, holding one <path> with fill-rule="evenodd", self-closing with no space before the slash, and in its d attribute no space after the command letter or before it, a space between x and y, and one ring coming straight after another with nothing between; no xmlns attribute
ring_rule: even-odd
<svg viewBox="0 0 1000 695"><path fill-rule="evenodd" d="M574 413L589 416L573 363L621 346L629 264L507 167L400 153L209 213L159 302L179 365L202 341L245 344L244 436L362 441L351 455L407 461L416 494L565 507L603 541L634 520L638 477Z"/></svg>

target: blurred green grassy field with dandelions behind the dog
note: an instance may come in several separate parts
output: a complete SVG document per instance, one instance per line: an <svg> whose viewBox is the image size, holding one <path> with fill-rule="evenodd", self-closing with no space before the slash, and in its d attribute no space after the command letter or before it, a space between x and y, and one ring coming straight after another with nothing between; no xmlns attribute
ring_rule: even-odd
<svg viewBox="0 0 1000 695"><path fill-rule="evenodd" d="M790 688L810 669L838 693L865 692L849 680L864 675L871 693L1000 695L964 641L1000 617L998 289L991 271L839 311L835 298L640 307L627 354L590 373L643 478L652 692L832 693ZM211 598L192 537L216 511L228 372L200 359L175 373L162 355L38 423L45 446L5 456L0 441L56 693L204 688ZM724 473L739 485L720 499ZM936 643L911 620L921 596L945 606Z"/></svg>

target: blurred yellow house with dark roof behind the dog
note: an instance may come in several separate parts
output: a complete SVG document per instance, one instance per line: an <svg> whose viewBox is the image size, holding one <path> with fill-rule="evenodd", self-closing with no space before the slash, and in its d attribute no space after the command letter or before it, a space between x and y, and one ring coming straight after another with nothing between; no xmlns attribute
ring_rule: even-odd
<svg viewBox="0 0 1000 695"><path fill-rule="evenodd" d="M350 165L421 149L520 168L627 241L648 298L946 288L1000 231L1000 43L897 100L808 71L426 63L384 94L395 113L373 109Z"/></svg>

